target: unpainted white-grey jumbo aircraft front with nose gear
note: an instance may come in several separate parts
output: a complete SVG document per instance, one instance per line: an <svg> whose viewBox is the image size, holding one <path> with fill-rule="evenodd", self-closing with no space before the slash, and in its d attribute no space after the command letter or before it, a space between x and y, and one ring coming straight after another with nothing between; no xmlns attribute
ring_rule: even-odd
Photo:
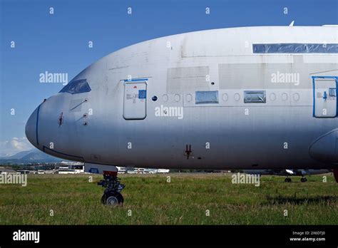
<svg viewBox="0 0 338 248"><path fill-rule="evenodd" d="M182 33L128 46L43 100L26 124L45 153L116 166L338 169L338 26Z"/></svg>

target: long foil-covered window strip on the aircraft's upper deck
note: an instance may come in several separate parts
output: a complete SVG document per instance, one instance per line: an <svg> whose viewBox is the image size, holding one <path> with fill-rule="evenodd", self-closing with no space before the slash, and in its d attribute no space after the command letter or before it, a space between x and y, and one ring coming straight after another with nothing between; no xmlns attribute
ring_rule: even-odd
<svg viewBox="0 0 338 248"><path fill-rule="evenodd" d="M336 43L252 44L253 53L338 53Z"/></svg>

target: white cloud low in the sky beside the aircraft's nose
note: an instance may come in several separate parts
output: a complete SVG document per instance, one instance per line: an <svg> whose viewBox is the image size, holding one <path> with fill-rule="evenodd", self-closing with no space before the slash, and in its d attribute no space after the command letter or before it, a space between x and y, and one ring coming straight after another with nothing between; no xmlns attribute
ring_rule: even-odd
<svg viewBox="0 0 338 248"><path fill-rule="evenodd" d="M0 155L14 155L24 150L31 150L33 145L29 143L26 137L11 138L0 142Z"/></svg>

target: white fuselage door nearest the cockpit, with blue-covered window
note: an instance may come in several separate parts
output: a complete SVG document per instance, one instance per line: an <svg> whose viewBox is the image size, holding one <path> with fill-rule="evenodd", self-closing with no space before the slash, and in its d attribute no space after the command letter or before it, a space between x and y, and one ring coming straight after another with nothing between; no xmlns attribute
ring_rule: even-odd
<svg viewBox="0 0 338 248"><path fill-rule="evenodd" d="M123 118L143 120L147 116L147 83L126 82L124 84Z"/></svg>

